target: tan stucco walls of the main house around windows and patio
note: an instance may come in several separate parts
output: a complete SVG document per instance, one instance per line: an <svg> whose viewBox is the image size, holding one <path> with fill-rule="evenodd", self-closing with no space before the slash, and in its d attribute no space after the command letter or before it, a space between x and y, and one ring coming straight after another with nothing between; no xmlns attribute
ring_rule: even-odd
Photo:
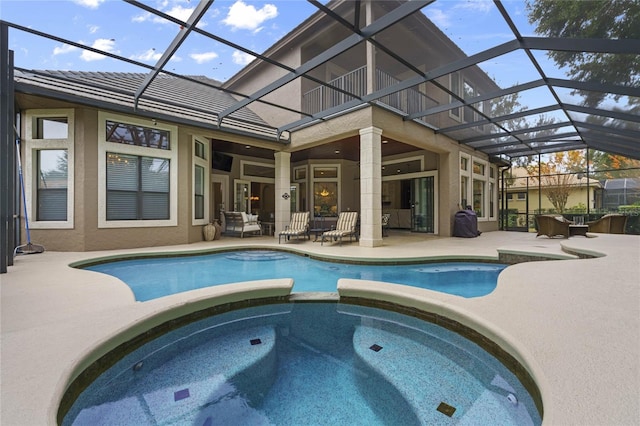
<svg viewBox="0 0 640 426"><path fill-rule="evenodd" d="M153 247L162 245L185 244L202 240L202 225L192 225L192 136L209 138L238 139L237 136L221 134L186 126L178 126L177 132L177 226L145 228L98 228L98 136L101 125L98 123L98 110L95 108L70 105L64 102L24 96L21 103L38 108L75 107L74 141L74 227L73 229L33 229L32 240L52 251L92 251L118 248ZM457 211L459 199L459 145L443 135L435 135L430 129L379 108L365 108L351 114L320 123L296 132L287 149L295 151L307 147L340 140L357 135L358 130L366 127L382 129L383 137L390 137L417 148L409 155L423 155L425 170L438 171L438 234L451 235L452 218ZM241 138L239 142L249 139ZM266 146L264 141L255 145ZM273 147L276 145L273 144ZM277 145L282 148L282 145ZM215 148L214 148L215 149ZM229 176L227 194L228 206L232 204L233 180L240 178L240 159L267 162L271 159L256 159L250 156L236 156ZM318 160L315 160L318 162ZM332 160L322 163L341 164L341 210L359 211L360 183L357 161ZM311 181L308 180L308 183ZM312 186L307 185L307 205L311 207ZM497 229L497 220L481 222L482 231Z"/></svg>

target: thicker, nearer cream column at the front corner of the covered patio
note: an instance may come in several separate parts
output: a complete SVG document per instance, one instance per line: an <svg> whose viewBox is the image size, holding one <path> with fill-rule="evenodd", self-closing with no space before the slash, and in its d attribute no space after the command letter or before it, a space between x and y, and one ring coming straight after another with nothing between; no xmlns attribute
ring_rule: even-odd
<svg viewBox="0 0 640 426"><path fill-rule="evenodd" d="M360 245L382 245L382 129L360 129Z"/></svg>

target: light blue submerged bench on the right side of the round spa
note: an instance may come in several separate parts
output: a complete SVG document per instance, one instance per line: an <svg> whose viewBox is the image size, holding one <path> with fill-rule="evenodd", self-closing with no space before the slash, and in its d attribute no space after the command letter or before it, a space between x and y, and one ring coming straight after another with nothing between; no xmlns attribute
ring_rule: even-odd
<svg viewBox="0 0 640 426"><path fill-rule="evenodd" d="M356 326L356 357L397 389L422 424L531 422L524 407L507 400L511 388L506 381L487 372L475 356L442 341L403 337L380 325L369 321Z"/></svg>

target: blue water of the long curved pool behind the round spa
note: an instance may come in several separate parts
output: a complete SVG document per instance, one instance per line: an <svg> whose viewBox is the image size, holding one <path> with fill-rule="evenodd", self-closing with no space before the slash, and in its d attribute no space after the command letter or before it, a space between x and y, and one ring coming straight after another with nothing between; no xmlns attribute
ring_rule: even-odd
<svg viewBox="0 0 640 426"><path fill-rule="evenodd" d="M293 278L294 292L335 292L340 278L405 284L463 297L491 293L507 265L423 263L364 265L324 262L273 250L243 250L201 256L122 260L86 267L113 275L145 301L219 284Z"/></svg>

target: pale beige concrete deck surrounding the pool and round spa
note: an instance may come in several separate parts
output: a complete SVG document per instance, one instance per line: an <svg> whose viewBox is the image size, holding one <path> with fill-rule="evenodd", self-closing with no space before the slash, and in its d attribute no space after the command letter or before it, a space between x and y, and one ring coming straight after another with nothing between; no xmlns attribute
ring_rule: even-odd
<svg viewBox="0 0 640 426"><path fill-rule="evenodd" d="M289 280L272 280L263 290L245 283L135 302L117 279L68 264L116 254L247 246L349 258L497 259L499 252L566 257L513 265L500 275L494 292L473 299L420 289L398 293L395 286L351 282L345 283L344 291L437 306L476 324L478 331L526 361L542 393L543 424L640 424L640 237L594 235L548 239L487 232L463 239L392 231L377 248L346 242L278 245L277 237L224 237L183 246L19 256L8 273L0 275L0 424L55 424L57 404L70 378L95 347L109 346L112 336L132 324L154 316L161 321L159 314L169 308L195 310L214 296L235 301L248 295L282 295L291 285ZM584 254L602 257L578 258Z"/></svg>

